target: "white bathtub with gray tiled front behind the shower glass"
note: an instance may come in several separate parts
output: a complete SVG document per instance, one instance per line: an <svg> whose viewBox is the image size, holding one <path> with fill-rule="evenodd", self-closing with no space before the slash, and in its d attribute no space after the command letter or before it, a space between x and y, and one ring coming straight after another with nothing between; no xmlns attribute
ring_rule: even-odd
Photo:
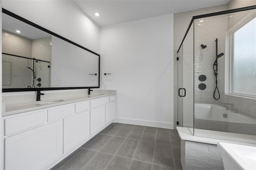
<svg viewBox="0 0 256 170"><path fill-rule="evenodd" d="M256 119L252 117L234 113L216 104L195 104L194 109L196 129L256 135Z"/></svg>

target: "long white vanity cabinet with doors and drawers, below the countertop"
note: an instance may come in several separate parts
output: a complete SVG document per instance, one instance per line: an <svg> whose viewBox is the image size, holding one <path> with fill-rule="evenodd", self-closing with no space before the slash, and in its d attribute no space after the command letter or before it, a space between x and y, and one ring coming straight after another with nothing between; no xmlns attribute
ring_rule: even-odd
<svg viewBox="0 0 256 170"><path fill-rule="evenodd" d="M4 116L4 170L50 169L115 115L115 96L104 96Z"/></svg>

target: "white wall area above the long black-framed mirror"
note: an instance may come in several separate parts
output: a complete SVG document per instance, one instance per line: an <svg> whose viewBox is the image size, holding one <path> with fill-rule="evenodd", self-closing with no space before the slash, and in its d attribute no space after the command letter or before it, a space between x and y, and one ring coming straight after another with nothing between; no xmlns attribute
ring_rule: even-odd
<svg viewBox="0 0 256 170"><path fill-rule="evenodd" d="M2 8L100 52L100 27L71 0L3 0Z"/></svg>

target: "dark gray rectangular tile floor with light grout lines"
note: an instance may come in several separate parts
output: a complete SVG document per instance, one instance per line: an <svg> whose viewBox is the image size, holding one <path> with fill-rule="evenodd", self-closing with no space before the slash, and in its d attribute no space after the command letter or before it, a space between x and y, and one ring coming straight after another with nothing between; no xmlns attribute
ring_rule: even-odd
<svg viewBox="0 0 256 170"><path fill-rule="evenodd" d="M182 170L176 130L112 123L51 170Z"/></svg>

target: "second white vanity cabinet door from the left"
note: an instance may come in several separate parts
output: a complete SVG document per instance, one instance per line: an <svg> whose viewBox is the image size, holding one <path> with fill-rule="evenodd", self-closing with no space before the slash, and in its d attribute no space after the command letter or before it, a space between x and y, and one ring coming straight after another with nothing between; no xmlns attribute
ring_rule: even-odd
<svg viewBox="0 0 256 170"><path fill-rule="evenodd" d="M83 111L63 119L63 152L77 147L89 137L90 119L89 111Z"/></svg>

